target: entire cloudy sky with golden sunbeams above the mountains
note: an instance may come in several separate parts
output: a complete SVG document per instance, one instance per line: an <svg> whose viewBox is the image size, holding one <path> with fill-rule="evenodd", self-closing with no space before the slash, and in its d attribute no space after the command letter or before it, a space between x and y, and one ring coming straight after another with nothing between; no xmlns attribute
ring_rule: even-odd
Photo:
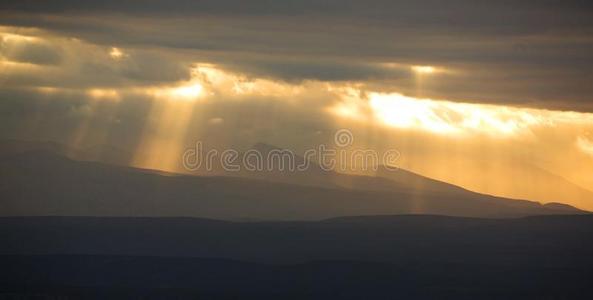
<svg viewBox="0 0 593 300"><path fill-rule="evenodd" d="M588 1L0 3L0 138L353 147L471 190L593 209Z"/></svg>

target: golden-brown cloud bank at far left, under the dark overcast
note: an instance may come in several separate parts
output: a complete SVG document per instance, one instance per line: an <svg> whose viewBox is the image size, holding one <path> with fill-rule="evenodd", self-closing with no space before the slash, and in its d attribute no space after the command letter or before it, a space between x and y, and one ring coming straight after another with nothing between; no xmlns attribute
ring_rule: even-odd
<svg viewBox="0 0 593 300"><path fill-rule="evenodd" d="M167 53L130 49L114 58L112 47L48 34L0 28L0 80L4 88L85 89L158 85L187 80L191 64Z"/></svg>

